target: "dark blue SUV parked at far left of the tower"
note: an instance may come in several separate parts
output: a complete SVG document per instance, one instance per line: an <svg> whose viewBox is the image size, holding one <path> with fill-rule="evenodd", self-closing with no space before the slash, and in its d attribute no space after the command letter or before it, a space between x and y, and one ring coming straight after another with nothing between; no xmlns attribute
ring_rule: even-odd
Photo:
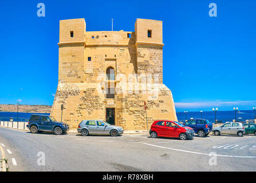
<svg viewBox="0 0 256 183"><path fill-rule="evenodd" d="M56 135L61 135L69 130L69 125L63 122L57 122L53 116L32 114L29 118L27 128L31 133L41 131L54 132Z"/></svg>

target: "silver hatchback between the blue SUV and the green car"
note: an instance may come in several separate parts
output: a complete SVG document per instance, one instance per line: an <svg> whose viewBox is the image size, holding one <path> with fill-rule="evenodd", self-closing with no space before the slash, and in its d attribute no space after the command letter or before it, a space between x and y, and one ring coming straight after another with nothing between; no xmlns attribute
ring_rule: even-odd
<svg viewBox="0 0 256 183"><path fill-rule="evenodd" d="M226 124L215 127L212 130L215 136L219 136L220 134L230 134L230 135L237 135L242 137L245 134L245 127L241 122L226 122Z"/></svg>

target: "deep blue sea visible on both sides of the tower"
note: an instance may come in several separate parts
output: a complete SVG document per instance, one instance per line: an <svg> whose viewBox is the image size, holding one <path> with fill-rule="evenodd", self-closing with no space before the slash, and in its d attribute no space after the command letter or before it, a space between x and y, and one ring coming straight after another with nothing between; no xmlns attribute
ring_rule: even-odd
<svg viewBox="0 0 256 183"><path fill-rule="evenodd" d="M0 112L1 121L10 121L10 118L13 118L13 121L27 121L29 120L31 114L45 114L50 115L50 113L18 113L17 112ZM186 119L190 118L201 118L200 112L188 112L187 116L184 112L176 112L178 121L184 122ZM210 122L215 122L215 113L212 111L206 111L202 113L202 118L208 119ZM233 110L218 111L216 113L216 120L218 122L230 122L235 119L235 112ZM239 110L237 112L237 121L245 122L249 120L253 122L254 111L253 110Z"/></svg>

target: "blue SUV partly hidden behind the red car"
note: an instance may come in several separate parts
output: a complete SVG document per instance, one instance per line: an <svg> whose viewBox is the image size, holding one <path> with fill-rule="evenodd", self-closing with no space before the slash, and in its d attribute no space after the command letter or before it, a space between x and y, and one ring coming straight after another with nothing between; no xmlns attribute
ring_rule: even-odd
<svg viewBox="0 0 256 183"><path fill-rule="evenodd" d="M206 137L212 131L212 124L206 119L191 119L183 125L192 128L199 137Z"/></svg>

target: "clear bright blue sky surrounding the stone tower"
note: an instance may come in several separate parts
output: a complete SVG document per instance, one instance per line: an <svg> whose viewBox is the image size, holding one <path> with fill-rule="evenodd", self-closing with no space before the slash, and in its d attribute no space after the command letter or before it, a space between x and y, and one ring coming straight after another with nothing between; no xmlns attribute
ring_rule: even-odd
<svg viewBox="0 0 256 183"><path fill-rule="evenodd" d="M37 17L37 3L45 17ZM210 17L210 3L218 17ZM163 82L177 111L256 106L255 1L3 1L0 104L52 105L60 19L87 31L134 31L136 18L163 21Z"/></svg>

